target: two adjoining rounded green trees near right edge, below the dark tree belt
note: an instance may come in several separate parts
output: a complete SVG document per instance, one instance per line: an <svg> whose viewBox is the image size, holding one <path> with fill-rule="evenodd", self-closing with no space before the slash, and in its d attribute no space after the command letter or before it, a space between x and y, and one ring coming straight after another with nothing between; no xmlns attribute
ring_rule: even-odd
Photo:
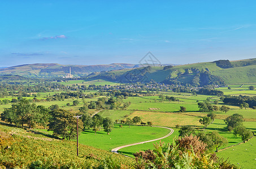
<svg viewBox="0 0 256 169"><path fill-rule="evenodd" d="M252 136L253 132L243 126L242 122L244 118L241 114L233 114L224 119L224 122L227 124L228 131L233 130L233 136L241 136L242 141L248 141Z"/></svg>

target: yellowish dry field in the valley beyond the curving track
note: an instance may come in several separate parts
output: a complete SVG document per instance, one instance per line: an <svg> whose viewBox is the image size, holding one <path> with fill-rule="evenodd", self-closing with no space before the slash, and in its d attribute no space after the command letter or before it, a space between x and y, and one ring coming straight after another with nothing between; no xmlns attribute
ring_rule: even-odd
<svg viewBox="0 0 256 169"><path fill-rule="evenodd" d="M202 126L199 123L199 117L186 115L183 113L163 113L163 112L144 112L135 111L129 118L134 116L141 117L143 122L153 122L154 126L175 127L180 126Z"/></svg>

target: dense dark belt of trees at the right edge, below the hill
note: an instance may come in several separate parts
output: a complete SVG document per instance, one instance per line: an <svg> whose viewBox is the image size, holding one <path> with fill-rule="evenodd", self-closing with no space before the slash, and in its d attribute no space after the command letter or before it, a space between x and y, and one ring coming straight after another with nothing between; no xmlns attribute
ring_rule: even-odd
<svg viewBox="0 0 256 169"><path fill-rule="evenodd" d="M241 104L249 104L250 108L256 108L256 96L250 97L250 96L231 96L227 95L223 98L223 103L225 104L231 104L231 105L237 105L240 106Z"/></svg>

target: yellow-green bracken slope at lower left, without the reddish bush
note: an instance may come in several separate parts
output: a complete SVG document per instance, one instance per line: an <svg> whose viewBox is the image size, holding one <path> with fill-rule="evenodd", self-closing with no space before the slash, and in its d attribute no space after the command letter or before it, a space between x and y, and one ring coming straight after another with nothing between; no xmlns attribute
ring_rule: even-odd
<svg viewBox="0 0 256 169"><path fill-rule="evenodd" d="M3 124L3 123L2 123ZM97 168L107 162L128 168L131 158L76 142L47 137L47 133L0 125L0 168ZM111 162L114 161L114 162ZM31 164L32 163L32 164ZM5 167L4 167L5 166Z"/></svg>

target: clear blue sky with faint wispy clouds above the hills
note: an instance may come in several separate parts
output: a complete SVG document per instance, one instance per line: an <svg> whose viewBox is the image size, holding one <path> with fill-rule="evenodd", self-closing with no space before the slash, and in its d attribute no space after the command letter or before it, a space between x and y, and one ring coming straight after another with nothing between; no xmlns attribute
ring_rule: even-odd
<svg viewBox="0 0 256 169"><path fill-rule="evenodd" d="M0 3L0 66L256 57L256 1Z"/></svg>

